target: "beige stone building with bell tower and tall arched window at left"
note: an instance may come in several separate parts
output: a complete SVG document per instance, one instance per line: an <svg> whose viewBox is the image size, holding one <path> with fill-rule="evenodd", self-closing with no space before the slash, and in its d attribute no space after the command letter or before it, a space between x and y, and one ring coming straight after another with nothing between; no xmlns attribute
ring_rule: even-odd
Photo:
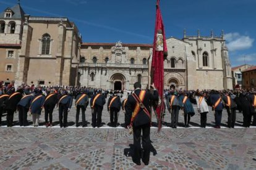
<svg viewBox="0 0 256 170"><path fill-rule="evenodd" d="M0 80L75 85L82 38L68 18L32 17L20 4L0 14Z"/></svg>

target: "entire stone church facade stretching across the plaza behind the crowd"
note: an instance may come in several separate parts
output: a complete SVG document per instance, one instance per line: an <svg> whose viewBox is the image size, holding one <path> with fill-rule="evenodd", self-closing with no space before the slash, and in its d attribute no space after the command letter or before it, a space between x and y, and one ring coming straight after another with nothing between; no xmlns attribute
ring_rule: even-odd
<svg viewBox="0 0 256 170"><path fill-rule="evenodd" d="M0 81L28 85L148 87L151 44L83 43L64 17L32 17L20 4L0 14ZM168 31L168 30L167 30ZM232 89L224 36L166 39L164 89Z"/></svg>

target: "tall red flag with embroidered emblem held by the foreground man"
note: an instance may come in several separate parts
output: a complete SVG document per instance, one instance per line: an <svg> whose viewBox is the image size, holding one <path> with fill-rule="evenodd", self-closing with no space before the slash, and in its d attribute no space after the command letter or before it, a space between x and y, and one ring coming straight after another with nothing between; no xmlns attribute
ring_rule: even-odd
<svg viewBox="0 0 256 170"><path fill-rule="evenodd" d="M153 57L151 64L151 83L155 84L160 95L161 105L156 108L158 117L158 131L161 129L161 118L164 109L163 89L164 89L164 57L167 55L166 38L164 32L163 18L159 6L160 0L156 2L156 23L155 38L153 44Z"/></svg>

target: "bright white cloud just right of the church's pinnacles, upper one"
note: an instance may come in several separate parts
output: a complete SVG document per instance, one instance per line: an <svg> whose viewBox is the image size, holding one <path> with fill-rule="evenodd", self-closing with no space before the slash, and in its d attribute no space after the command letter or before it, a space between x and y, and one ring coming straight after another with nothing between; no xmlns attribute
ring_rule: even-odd
<svg viewBox="0 0 256 170"><path fill-rule="evenodd" d="M239 33L228 33L225 34L225 38L229 51L239 51L244 49L249 49L252 47L254 42L253 38L249 36L244 36Z"/></svg>

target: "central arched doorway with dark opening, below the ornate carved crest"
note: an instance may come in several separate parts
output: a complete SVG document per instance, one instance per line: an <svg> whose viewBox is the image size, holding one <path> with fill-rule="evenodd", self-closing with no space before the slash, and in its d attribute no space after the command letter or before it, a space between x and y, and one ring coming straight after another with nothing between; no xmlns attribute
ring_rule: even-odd
<svg viewBox="0 0 256 170"><path fill-rule="evenodd" d="M126 89L126 77L122 73L114 73L109 78L109 87L113 90L124 90Z"/></svg>

